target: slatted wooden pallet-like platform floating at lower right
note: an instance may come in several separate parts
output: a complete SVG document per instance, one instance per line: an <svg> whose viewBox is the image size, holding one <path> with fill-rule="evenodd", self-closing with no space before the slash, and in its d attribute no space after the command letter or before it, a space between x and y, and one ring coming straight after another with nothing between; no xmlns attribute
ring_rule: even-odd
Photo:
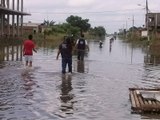
<svg viewBox="0 0 160 120"><path fill-rule="evenodd" d="M129 97L134 113L160 113L160 88L129 88Z"/></svg>

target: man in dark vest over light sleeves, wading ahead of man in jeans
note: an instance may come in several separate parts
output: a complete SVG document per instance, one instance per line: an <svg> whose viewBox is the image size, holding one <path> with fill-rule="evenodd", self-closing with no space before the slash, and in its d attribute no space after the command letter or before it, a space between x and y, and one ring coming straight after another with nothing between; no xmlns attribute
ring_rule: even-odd
<svg viewBox="0 0 160 120"><path fill-rule="evenodd" d="M87 41L84 39L84 34L81 35L81 38L77 40L75 48L77 49L77 59L83 61L85 50L89 51L89 46Z"/></svg>

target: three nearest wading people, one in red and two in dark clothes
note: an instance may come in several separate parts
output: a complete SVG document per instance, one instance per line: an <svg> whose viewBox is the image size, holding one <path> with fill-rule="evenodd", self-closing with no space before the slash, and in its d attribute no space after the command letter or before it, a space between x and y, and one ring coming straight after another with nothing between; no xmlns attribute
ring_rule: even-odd
<svg viewBox="0 0 160 120"><path fill-rule="evenodd" d="M25 65L32 67L32 56L33 51L37 52L35 49L35 43L32 40L33 36L29 35L28 40L23 43L23 55L25 58ZM77 60L83 61L85 50L89 51L89 46L87 41L84 39L84 34L73 44L71 37L65 37L63 42L58 47L58 53L56 59L58 60L59 55L62 57L62 73L66 73L66 68L68 66L68 72L72 73L72 52L77 50Z"/></svg>

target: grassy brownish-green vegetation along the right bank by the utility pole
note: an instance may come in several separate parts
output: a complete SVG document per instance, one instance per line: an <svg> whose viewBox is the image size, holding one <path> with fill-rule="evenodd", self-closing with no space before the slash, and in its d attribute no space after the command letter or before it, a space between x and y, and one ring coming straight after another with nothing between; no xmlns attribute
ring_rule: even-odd
<svg viewBox="0 0 160 120"><path fill-rule="evenodd" d="M142 28L132 27L128 31L121 31L119 32L119 36L125 41L129 42L132 47L142 47L143 50L146 50L148 54L151 56L151 61L154 61L152 58L155 57L159 58L159 48L160 48L160 38L158 33L155 31L149 32L149 39L148 37L141 36ZM153 57L154 56L154 57Z"/></svg>

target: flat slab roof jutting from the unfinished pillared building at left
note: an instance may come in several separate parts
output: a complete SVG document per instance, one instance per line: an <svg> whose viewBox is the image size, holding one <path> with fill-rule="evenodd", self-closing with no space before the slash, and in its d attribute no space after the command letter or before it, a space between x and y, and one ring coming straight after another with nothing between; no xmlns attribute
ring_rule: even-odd
<svg viewBox="0 0 160 120"><path fill-rule="evenodd" d="M0 13L10 14L10 15L31 15L31 14L26 13L26 12L12 10L12 9L8 9L8 8L2 7L2 6L0 6Z"/></svg>

